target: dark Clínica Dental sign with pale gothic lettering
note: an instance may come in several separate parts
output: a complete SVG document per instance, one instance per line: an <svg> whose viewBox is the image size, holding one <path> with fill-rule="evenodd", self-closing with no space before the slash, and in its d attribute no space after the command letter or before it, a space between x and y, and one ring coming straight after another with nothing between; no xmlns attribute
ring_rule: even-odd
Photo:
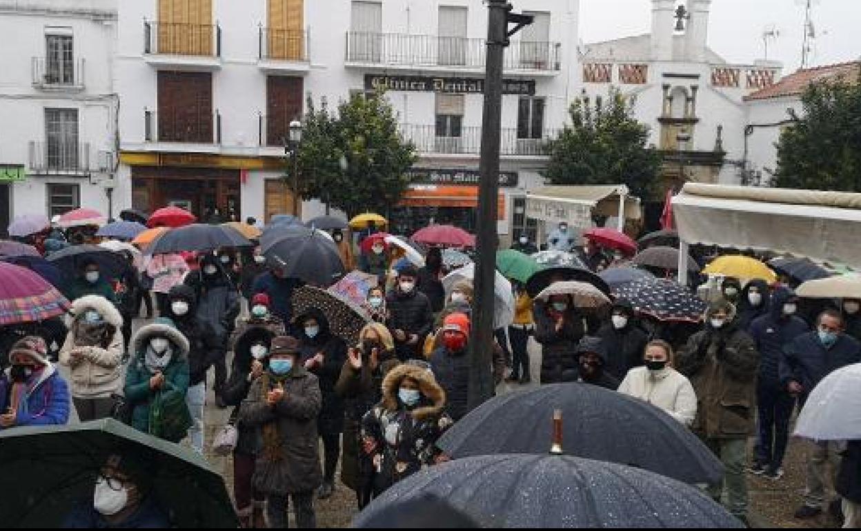
<svg viewBox="0 0 861 531"><path fill-rule="evenodd" d="M445 94L484 94L484 79L478 77L424 77L365 75L366 90L400 92L442 92ZM535 96L534 79L503 79L502 93Z"/></svg>

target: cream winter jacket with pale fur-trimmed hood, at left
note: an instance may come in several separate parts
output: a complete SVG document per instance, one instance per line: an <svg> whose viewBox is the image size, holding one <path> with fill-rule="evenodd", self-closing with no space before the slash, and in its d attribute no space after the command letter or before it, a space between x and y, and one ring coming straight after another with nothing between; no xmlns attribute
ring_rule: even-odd
<svg viewBox="0 0 861 531"><path fill-rule="evenodd" d="M85 324L84 313L88 310L99 312L103 322L96 326ZM87 295L72 303L66 325L69 332L59 351L59 362L71 369L71 396L109 398L111 394L120 392L123 379L120 312L108 299ZM96 342L78 337L77 334L85 329L90 330L90 335L99 335L102 339L94 344ZM72 352L80 355L73 356Z"/></svg>

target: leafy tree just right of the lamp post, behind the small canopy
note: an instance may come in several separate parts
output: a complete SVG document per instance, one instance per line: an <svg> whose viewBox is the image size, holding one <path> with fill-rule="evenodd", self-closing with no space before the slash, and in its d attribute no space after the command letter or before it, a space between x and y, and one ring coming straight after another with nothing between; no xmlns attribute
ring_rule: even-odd
<svg viewBox="0 0 861 531"><path fill-rule="evenodd" d="M660 154L647 147L649 127L634 118L633 105L619 90L608 98L575 100L571 125L548 145L543 175L553 184L626 184L632 194L651 195Z"/></svg>

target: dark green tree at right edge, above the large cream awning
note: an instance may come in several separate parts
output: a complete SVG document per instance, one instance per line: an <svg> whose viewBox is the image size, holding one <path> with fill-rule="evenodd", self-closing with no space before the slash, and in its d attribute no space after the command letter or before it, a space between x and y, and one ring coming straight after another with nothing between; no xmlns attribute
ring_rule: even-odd
<svg viewBox="0 0 861 531"><path fill-rule="evenodd" d="M772 186L861 192L861 74L853 81L804 92L803 117L777 142Z"/></svg>

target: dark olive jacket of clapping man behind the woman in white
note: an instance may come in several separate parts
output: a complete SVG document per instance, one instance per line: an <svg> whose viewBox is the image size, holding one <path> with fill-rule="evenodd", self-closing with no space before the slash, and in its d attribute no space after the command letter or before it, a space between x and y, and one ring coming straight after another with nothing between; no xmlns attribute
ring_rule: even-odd
<svg viewBox="0 0 861 531"><path fill-rule="evenodd" d="M706 312L706 323L710 317ZM737 439L754 431L759 352L734 317L720 330L697 332L678 353L678 372L697 393L692 429L709 438Z"/></svg>

